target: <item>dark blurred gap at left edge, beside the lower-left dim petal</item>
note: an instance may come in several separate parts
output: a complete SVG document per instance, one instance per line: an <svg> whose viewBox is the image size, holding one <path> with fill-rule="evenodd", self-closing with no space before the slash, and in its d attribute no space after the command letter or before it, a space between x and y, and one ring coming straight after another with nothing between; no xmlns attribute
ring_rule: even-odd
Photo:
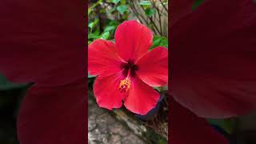
<svg viewBox="0 0 256 144"><path fill-rule="evenodd" d="M0 144L18 144L18 109L30 86L32 83L10 82L0 73Z"/></svg>

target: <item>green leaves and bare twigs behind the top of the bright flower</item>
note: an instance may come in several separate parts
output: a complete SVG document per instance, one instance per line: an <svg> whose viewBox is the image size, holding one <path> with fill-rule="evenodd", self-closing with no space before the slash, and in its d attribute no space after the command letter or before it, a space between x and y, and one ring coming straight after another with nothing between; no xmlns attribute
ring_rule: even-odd
<svg viewBox="0 0 256 144"><path fill-rule="evenodd" d="M99 0L89 1L88 44L95 39L113 39L114 30L128 18L138 19L154 34L167 37L167 4L161 1Z"/></svg>

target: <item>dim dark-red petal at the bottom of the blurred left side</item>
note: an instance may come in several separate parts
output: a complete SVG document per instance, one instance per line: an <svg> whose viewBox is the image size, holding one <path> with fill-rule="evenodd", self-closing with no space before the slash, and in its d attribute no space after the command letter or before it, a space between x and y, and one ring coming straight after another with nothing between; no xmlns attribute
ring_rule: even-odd
<svg viewBox="0 0 256 144"><path fill-rule="evenodd" d="M21 144L84 143L85 83L66 86L33 86L18 116Z"/></svg>

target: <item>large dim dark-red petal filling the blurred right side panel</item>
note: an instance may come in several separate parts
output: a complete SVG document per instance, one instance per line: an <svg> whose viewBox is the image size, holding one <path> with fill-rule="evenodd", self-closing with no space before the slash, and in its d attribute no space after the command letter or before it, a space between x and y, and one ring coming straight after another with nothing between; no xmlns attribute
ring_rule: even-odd
<svg viewBox="0 0 256 144"><path fill-rule="evenodd" d="M209 0L173 26L174 98L202 117L255 110L255 25L253 1Z"/></svg>

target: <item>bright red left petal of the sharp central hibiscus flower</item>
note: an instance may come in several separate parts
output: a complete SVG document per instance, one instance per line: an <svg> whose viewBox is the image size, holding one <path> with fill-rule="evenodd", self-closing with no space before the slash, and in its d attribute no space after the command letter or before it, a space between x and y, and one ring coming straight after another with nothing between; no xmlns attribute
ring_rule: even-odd
<svg viewBox="0 0 256 144"><path fill-rule="evenodd" d="M121 69L122 60L115 51L113 42L98 39L88 48L88 71L92 75L114 74Z"/></svg>

